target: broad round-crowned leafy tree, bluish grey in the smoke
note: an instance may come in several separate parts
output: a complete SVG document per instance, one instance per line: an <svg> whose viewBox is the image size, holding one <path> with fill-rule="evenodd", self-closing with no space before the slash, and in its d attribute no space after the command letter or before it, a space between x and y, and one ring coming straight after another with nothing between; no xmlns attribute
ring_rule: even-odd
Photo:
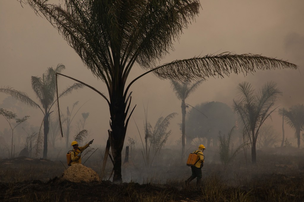
<svg viewBox="0 0 304 202"><path fill-rule="evenodd" d="M195 137L205 137L207 147L210 146L212 139L216 145L219 131L229 131L235 122L232 109L225 103L214 101L201 103L188 113L186 119L187 142Z"/></svg>

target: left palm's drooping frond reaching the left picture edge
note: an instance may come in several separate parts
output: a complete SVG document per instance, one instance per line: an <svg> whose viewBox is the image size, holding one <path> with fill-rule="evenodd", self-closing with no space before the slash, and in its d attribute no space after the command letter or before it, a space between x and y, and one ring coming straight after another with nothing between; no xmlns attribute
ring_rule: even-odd
<svg viewBox="0 0 304 202"><path fill-rule="evenodd" d="M9 86L7 86L7 87L5 87L5 86L1 87L0 88L0 92L1 93L5 93L7 95L10 95L13 98L19 100L20 102L22 102L22 103L24 103L24 104L26 104L28 106L41 109L40 106L37 103L35 103L32 99L30 99L29 96L26 93L18 91L18 90L15 90L12 87L9 87ZM42 109L41 109L41 111L43 112Z"/></svg>

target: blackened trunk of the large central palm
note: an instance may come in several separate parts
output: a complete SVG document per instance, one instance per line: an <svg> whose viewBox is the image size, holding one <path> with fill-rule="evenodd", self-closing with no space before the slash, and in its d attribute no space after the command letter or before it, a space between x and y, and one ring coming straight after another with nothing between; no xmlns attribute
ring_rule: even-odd
<svg viewBox="0 0 304 202"><path fill-rule="evenodd" d="M117 94L115 94L117 93ZM114 160L114 175L113 182L121 183L121 151L123 150L123 143L126 136L125 128L125 101L123 99L123 92L113 92L110 113L111 113L111 130L110 131L110 145ZM127 113L127 112L126 112Z"/></svg>

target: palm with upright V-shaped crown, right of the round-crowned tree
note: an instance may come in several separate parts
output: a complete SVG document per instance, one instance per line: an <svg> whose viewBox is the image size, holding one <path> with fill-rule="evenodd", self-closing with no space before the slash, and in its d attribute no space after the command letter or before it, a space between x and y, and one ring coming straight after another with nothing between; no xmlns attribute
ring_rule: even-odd
<svg viewBox="0 0 304 202"><path fill-rule="evenodd" d="M277 88L275 82L267 82L258 92L248 82L242 82L237 86L237 93L239 99L233 99L233 109L243 122L243 131L250 137L251 160L252 163L256 163L256 143L259 130L264 121L275 111L276 108L271 108L282 92Z"/></svg>

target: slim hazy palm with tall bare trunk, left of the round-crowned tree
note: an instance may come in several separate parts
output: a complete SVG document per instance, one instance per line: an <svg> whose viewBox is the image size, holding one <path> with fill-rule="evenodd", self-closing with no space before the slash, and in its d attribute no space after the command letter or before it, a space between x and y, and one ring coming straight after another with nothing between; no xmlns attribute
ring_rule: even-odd
<svg viewBox="0 0 304 202"><path fill-rule="evenodd" d="M185 117L186 117L186 103L185 100L193 93L204 80L199 80L191 83L190 81L179 82L171 80L171 87L178 99L181 100L181 158L185 155Z"/></svg>

